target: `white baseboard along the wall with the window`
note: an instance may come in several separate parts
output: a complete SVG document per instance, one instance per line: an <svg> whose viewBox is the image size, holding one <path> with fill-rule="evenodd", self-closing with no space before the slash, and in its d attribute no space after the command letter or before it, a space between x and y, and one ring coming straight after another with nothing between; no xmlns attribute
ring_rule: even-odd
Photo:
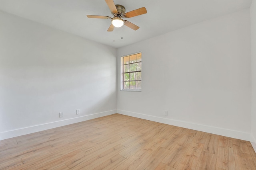
<svg viewBox="0 0 256 170"><path fill-rule="evenodd" d="M207 126L207 125L200 125L200 124L195 124L195 123L190 123L190 122L185 122L185 121L179 121L179 120L174 120L174 119L168 119L168 118L163 118L163 117L156 117L152 115L144 115L141 113L134 113L130 111L124 111L117 109L117 113L123 114L123 115L128 115L132 117L138 117L141 119L146 119L150 121L156 121L159 123L164 123L168 125L174 125L178 127L184 127L188 129L193 129L197 131L203 131L207 133L212 133L216 135L222 135L226 137L232 137L236 139L242 139L244 141L251 141L251 134L246 133L246 132L241 132L241 131L234 131L230 129L223 129L219 127L212 127L212 126ZM255 150L255 148L254 148Z"/></svg>

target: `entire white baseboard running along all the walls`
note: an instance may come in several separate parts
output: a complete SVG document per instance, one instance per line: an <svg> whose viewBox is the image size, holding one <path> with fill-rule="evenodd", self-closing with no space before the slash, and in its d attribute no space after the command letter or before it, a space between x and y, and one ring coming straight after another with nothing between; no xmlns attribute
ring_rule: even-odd
<svg viewBox="0 0 256 170"><path fill-rule="evenodd" d="M41 124L41 125L36 125L36 126L25 127L25 128L21 128L21 129L15 129L12 131L2 132L2 133L0 133L0 140L9 139L9 138L17 137L17 136L21 136L21 135L26 135L26 134L30 134L30 133L34 133L34 132L44 131L44 130L52 129L55 127L70 125L73 123L78 123L81 121L95 119L95 118L103 117L106 115L112 115L114 113L120 113L123 115L138 117L141 119L156 121L159 123L174 125L174 126L178 126L178 127L184 127L184 128L188 128L188 129L197 130L197 131L213 133L216 135L222 135L222 136L226 136L226 137L242 139L245 141L251 141L252 147L254 148L254 150L256 150L256 139L250 133L234 131L234 130L230 130L230 129L223 129L223 128L219 128L219 127L212 127L212 126L207 126L207 125L200 125L200 124L195 124L195 123L190 123L190 122L185 122L185 121L178 121L178 120L174 120L174 119L167 119L167 118L163 118L163 117L156 117L156 116L152 116L152 115L145 115L145 114L141 114L141 113L134 113L131 111L124 111L124 110L120 110L120 109L104 111L101 113L84 115L84 116L75 117L72 119L65 119L62 121L55 121L55 122L51 122L51 123L45 123L45 124Z"/></svg>

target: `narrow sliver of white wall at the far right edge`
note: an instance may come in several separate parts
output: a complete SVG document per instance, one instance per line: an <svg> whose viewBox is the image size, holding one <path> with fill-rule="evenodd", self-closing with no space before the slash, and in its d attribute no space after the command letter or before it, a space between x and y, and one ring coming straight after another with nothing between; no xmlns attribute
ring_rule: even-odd
<svg viewBox="0 0 256 170"><path fill-rule="evenodd" d="M256 0L252 0L251 47L252 47L252 146L256 150Z"/></svg>

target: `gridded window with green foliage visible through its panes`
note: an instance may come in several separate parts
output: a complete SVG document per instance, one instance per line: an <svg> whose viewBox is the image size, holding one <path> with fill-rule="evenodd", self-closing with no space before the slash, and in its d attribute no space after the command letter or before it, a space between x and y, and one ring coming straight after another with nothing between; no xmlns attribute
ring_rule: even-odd
<svg viewBox="0 0 256 170"><path fill-rule="evenodd" d="M121 57L121 90L141 91L141 53Z"/></svg>

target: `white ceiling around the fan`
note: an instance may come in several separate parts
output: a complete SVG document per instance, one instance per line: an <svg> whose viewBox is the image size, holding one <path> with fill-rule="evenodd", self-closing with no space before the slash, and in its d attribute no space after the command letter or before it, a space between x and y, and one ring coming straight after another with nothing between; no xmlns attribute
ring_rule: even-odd
<svg viewBox="0 0 256 170"><path fill-rule="evenodd" d="M224 14L249 8L252 0L114 0L126 12L145 7L147 14L127 18L138 25L107 32L111 20L86 15L110 16L104 0L0 0L0 10L43 23L112 47L123 47L156 35ZM123 39L121 39L123 37Z"/></svg>

